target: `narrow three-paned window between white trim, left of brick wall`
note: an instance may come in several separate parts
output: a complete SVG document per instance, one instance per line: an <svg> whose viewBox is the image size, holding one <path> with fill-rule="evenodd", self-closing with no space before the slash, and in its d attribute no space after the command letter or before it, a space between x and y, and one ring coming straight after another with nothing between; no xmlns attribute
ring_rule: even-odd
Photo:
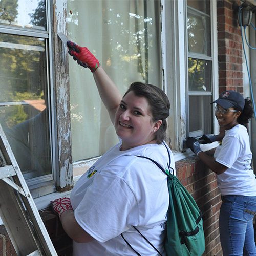
<svg viewBox="0 0 256 256"><path fill-rule="evenodd" d="M187 0L188 134L213 133L210 1Z"/></svg>

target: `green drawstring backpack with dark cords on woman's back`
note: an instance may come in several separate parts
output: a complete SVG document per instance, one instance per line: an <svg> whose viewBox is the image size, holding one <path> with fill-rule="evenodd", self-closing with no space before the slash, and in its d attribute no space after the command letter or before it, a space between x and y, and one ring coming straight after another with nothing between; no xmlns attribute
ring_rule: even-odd
<svg viewBox="0 0 256 256"><path fill-rule="evenodd" d="M166 145L165 147L168 151ZM151 158L137 156L151 160L168 176L169 208L167 211L165 250L168 256L201 256L205 250L202 212L198 208L194 198L188 193L179 179L173 175L174 170L170 167L169 151L168 155L169 170L164 170L159 163ZM170 173L171 170L172 174ZM136 227L134 228L159 255L162 255ZM124 239L122 234L121 236ZM132 248L125 239L124 241ZM134 250L134 252L140 255L137 251Z"/></svg>

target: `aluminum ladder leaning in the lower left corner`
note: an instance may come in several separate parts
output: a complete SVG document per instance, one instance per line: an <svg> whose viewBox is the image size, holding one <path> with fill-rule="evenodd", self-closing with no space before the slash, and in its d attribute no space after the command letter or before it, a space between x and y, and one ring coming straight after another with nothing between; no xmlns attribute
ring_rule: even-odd
<svg viewBox="0 0 256 256"><path fill-rule="evenodd" d="M18 256L57 256L1 124L0 217Z"/></svg>

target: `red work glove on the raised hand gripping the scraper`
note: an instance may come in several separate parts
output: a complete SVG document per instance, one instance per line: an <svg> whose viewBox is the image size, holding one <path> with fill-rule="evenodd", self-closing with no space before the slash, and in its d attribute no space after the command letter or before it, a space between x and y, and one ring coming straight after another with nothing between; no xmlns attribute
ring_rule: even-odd
<svg viewBox="0 0 256 256"><path fill-rule="evenodd" d="M72 41L67 41L67 46L69 48L69 54L73 56L74 60L77 60L79 65L89 68L92 72L100 66L99 61L87 47L80 47Z"/></svg>

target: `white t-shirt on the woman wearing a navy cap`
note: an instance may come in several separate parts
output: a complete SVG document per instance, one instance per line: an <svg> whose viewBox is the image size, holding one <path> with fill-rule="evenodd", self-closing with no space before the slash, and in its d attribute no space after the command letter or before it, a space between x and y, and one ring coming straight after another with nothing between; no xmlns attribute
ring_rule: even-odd
<svg viewBox="0 0 256 256"><path fill-rule="evenodd" d="M221 195L256 196L256 179L250 166L252 153L245 126L238 124L226 130L216 148L215 160L228 169L217 175Z"/></svg>

